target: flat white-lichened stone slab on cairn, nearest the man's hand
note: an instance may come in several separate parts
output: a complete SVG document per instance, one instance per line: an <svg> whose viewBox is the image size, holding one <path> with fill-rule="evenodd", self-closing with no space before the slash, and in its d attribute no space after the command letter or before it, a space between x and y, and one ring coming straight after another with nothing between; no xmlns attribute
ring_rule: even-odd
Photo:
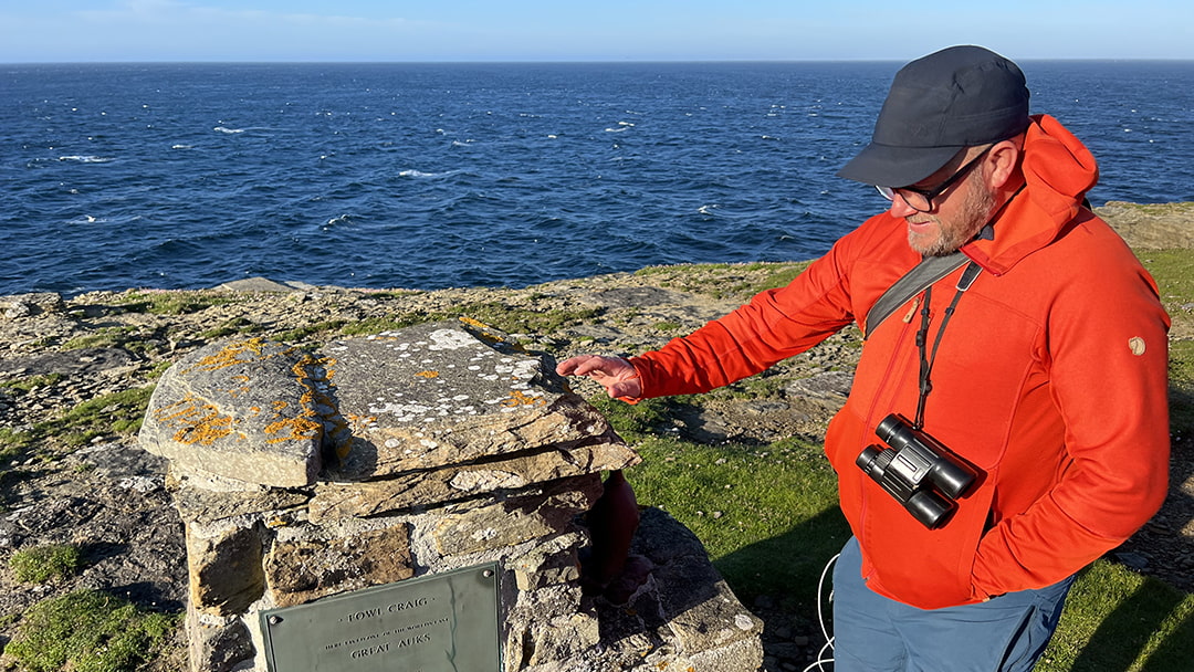
<svg viewBox="0 0 1194 672"><path fill-rule="evenodd" d="M339 480L377 479L601 438L621 443L543 360L467 322L328 344L353 442Z"/></svg>

